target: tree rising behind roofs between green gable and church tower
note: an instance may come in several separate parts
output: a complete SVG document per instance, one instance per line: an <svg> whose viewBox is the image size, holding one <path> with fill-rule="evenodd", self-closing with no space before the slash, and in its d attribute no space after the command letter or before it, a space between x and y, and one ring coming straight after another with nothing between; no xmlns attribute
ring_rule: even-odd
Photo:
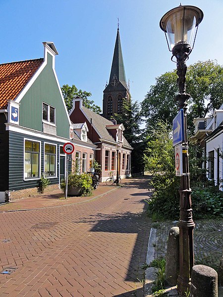
<svg viewBox="0 0 223 297"><path fill-rule="evenodd" d="M75 85L71 87L69 85L63 85L61 88L63 98L65 100L66 108L68 112L72 108L72 101L76 96L83 99L83 105L96 113L101 113L102 110L100 106L94 104L93 100L89 100L88 97L91 96L90 92L78 90Z"/></svg>

